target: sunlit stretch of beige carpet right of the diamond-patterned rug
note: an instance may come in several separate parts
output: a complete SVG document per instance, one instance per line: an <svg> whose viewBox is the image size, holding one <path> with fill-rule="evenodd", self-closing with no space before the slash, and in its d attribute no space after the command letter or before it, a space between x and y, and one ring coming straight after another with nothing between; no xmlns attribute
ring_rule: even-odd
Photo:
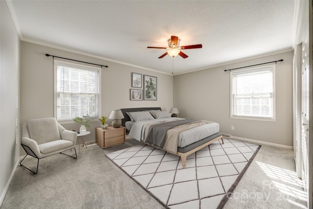
<svg viewBox="0 0 313 209"><path fill-rule="evenodd" d="M294 152L262 145L223 209L307 209Z"/></svg>

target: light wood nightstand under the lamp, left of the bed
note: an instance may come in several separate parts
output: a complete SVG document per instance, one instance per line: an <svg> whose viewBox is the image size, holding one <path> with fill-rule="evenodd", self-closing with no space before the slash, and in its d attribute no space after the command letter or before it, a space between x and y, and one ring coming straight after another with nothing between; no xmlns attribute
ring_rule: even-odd
<svg viewBox="0 0 313 209"><path fill-rule="evenodd" d="M96 127L96 143L101 148L125 143L125 131L126 128L124 126L119 128L108 126L107 129Z"/></svg>

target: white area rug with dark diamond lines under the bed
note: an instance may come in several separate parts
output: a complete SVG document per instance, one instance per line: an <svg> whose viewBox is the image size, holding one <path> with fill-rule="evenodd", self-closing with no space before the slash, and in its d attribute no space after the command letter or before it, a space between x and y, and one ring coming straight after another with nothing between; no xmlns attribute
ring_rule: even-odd
<svg viewBox="0 0 313 209"><path fill-rule="evenodd" d="M147 144L106 156L165 208L222 209L261 145L224 139L180 157Z"/></svg>

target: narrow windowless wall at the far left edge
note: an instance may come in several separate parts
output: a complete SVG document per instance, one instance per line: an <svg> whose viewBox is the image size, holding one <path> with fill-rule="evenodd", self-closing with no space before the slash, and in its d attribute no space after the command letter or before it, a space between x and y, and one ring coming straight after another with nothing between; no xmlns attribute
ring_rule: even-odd
<svg viewBox="0 0 313 209"><path fill-rule="evenodd" d="M21 41L6 1L0 1L0 205L20 157Z"/></svg>

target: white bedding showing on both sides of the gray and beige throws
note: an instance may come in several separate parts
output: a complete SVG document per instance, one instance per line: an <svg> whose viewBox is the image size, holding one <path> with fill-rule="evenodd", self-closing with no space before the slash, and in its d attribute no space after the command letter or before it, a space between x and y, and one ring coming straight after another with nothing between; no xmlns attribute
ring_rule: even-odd
<svg viewBox="0 0 313 209"><path fill-rule="evenodd" d="M147 124L172 121L172 120L181 120L181 119L185 119L185 118L167 117L167 118L160 118L160 119L153 119L153 120L138 121L133 124L133 127L129 133L129 136L133 137L134 139L137 139L138 141L140 140L145 141L144 132L145 132L145 127ZM196 141L199 141L213 134L216 134L219 131L220 131L220 125L216 122L212 122L212 123L206 123L204 125L180 132L179 139L178 139L178 147L183 148Z"/></svg>

